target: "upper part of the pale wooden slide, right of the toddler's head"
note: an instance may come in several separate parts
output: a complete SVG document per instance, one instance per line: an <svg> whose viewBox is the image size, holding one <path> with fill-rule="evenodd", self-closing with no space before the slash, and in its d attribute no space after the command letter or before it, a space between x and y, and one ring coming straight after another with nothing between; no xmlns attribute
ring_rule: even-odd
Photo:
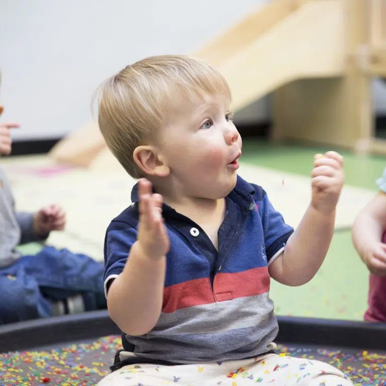
<svg viewBox="0 0 386 386"><path fill-rule="evenodd" d="M341 76L342 19L340 1L277 0L194 54L225 76L237 111L296 79Z"/></svg>

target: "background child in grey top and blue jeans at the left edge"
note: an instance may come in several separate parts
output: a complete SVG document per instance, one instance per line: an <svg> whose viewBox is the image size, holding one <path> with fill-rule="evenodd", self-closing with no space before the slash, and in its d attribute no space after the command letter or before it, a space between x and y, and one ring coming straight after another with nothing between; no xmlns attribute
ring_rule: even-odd
<svg viewBox="0 0 386 386"><path fill-rule="evenodd" d="M0 124L0 156L11 153L10 130L16 127ZM106 308L103 264L51 246L28 256L16 250L64 227L65 213L58 205L36 213L15 211L9 180L0 168L0 324Z"/></svg>

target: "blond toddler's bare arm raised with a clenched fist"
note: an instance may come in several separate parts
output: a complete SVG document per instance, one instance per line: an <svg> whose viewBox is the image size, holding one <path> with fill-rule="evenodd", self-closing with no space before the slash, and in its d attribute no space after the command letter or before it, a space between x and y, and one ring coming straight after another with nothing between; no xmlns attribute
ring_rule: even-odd
<svg viewBox="0 0 386 386"><path fill-rule="evenodd" d="M344 181L343 157L335 152L317 156L312 177L312 202L283 253L269 265L270 275L286 285L310 281L326 257Z"/></svg>

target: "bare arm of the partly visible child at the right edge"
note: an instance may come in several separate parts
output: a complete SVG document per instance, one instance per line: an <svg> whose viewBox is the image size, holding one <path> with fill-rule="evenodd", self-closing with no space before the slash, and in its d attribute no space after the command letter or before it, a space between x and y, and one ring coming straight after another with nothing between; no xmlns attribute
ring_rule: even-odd
<svg viewBox="0 0 386 386"><path fill-rule="evenodd" d="M368 269L386 275L386 244L381 242L386 231L386 193L378 194L359 212L352 227L356 251Z"/></svg>

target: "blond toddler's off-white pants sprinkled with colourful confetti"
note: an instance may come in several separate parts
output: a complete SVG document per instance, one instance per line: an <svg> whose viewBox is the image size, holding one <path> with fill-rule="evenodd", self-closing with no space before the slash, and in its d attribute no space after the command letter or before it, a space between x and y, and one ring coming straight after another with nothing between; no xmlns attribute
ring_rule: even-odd
<svg viewBox="0 0 386 386"><path fill-rule="evenodd" d="M349 386L337 368L316 360L267 354L222 363L163 366L124 366L102 379L99 386Z"/></svg>

